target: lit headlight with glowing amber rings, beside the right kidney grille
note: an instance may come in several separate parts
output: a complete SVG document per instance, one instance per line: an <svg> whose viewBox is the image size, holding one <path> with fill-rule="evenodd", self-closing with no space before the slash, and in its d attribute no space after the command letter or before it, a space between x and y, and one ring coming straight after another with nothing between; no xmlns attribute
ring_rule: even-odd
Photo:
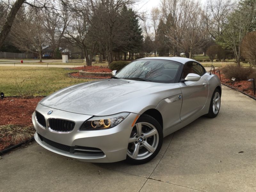
<svg viewBox="0 0 256 192"><path fill-rule="evenodd" d="M110 116L94 116L83 123L80 131L109 129L120 124L130 113L118 113Z"/></svg>

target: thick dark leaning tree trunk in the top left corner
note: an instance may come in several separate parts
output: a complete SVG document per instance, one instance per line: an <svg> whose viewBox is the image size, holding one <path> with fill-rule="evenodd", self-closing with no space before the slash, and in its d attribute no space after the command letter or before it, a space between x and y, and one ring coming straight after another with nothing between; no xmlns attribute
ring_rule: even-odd
<svg viewBox="0 0 256 192"><path fill-rule="evenodd" d="M13 20L17 14L17 12L19 11L21 5L25 2L26 0L17 0L14 5L12 6L12 9L10 11L10 13L8 14L7 20L0 32L0 48L2 47L4 40L6 39L6 37L8 36L11 28L12 28L12 23Z"/></svg>

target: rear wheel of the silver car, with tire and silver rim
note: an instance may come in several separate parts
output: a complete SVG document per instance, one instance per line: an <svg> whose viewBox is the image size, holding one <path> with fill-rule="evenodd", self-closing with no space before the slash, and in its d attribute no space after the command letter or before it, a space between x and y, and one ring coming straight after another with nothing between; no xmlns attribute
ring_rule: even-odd
<svg viewBox="0 0 256 192"><path fill-rule="evenodd" d="M212 100L210 103L209 112L206 116L210 118L214 118L219 114L220 111L220 91L219 89L215 89L212 94Z"/></svg>

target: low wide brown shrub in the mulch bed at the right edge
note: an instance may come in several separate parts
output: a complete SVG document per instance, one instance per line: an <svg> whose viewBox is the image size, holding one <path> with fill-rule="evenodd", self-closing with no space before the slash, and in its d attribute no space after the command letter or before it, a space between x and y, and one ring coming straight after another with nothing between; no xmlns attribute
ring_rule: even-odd
<svg viewBox="0 0 256 192"><path fill-rule="evenodd" d="M254 71L255 70L251 67L243 68L236 65L227 65L221 70L226 78L231 79L232 77L235 77L236 80L248 80Z"/></svg>

